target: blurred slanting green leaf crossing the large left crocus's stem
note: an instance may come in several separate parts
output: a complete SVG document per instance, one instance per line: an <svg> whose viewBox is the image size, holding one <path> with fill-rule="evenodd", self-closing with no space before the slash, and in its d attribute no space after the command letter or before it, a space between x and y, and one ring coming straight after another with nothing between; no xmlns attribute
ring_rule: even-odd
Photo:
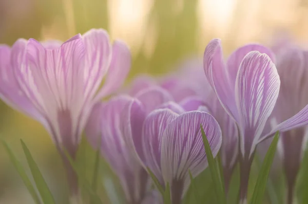
<svg viewBox="0 0 308 204"><path fill-rule="evenodd" d="M79 171L78 166L73 161L73 159L71 158L71 156L69 155L67 150L65 150L65 149L63 149L63 150L64 150L64 154L67 157L69 163L71 164L73 170L76 172L79 182L82 184L82 186L85 188L85 190L89 193L91 201L95 204L102 204L101 198L97 195L97 193L95 193L92 190L91 184L87 181L85 175L81 171Z"/></svg>

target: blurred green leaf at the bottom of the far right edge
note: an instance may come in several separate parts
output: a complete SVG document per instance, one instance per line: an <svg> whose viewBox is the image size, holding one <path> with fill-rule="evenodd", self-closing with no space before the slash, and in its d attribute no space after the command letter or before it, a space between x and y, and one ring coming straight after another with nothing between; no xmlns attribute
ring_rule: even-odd
<svg viewBox="0 0 308 204"><path fill-rule="evenodd" d="M308 142L307 142L308 144ZM302 192L302 202L301 203L308 203L308 145L306 144L306 149L304 152L303 160L301 163L300 168L300 180L301 182L301 188L300 191Z"/></svg>

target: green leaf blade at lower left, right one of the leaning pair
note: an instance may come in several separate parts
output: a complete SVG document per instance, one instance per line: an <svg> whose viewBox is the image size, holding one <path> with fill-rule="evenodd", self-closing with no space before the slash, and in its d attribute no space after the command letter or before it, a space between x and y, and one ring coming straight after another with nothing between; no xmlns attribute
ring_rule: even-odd
<svg viewBox="0 0 308 204"><path fill-rule="evenodd" d="M28 161L28 165L29 168L31 170L33 179L35 181L36 184L36 188L38 190L38 192L40 192L40 195L42 197L42 200L44 202L44 204L55 204L54 198L47 186L46 181L44 180L44 177L40 171L40 169L38 169L38 166L36 164L36 162L34 161L28 147L26 146L25 142L21 139L21 143L23 146L23 150L24 153L26 155L27 161Z"/></svg>

